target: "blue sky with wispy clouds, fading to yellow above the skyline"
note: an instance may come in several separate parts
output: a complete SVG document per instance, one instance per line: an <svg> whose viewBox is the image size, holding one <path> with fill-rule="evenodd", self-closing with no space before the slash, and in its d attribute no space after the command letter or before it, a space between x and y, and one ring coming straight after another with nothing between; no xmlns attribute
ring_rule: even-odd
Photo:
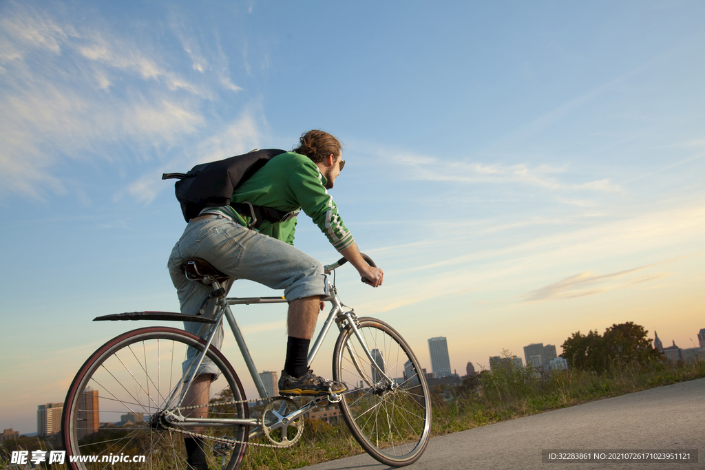
<svg viewBox="0 0 705 470"><path fill-rule="evenodd" d="M696 1L3 1L0 428L34 432L37 405L62 402L90 352L136 327L94 316L178 310L166 259L185 223L161 173L291 149L312 128L345 144L331 194L386 273L373 290L341 269L343 302L396 326L428 369L435 336L459 373L624 321L697 345L704 13ZM309 221L296 245L338 257ZM281 370L282 307L235 314L258 368Z"/></svg>

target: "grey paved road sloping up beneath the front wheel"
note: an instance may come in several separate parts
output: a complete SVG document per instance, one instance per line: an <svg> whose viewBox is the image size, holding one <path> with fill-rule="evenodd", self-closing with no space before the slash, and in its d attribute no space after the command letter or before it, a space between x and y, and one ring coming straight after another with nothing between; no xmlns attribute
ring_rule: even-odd
<svg viewBox="0 0 705 470"><path fill-rule="evenodd" d="M698 463L541 463L542 449L699 450ZM304 467L377 470L367 454ZM705 469L705 378L431 439L410 470Z"/></svg>

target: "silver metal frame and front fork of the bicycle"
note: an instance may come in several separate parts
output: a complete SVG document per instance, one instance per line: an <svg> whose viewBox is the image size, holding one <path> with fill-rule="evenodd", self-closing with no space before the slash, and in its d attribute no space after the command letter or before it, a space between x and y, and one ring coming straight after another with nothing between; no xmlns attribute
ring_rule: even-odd
<svg viewBox="0 0 705 470"><path fill-rule="evenodd" d="M331 265L327 266L326 269L332 271L332 269L335 269L337 266ZM327 283L327 280L326 280ZM220 283L217 280L214 280L212 283L212 286L214 287L214 290L219 290L221 288ZM326 338L326 335L329 333L329 330L331 329L331 326L333 326L333 322L337 323L338 325L338 330L343 330L345 326L348 328L351 328L353 330L353 333L357 337L358 340L360 340L360 345L362 345L362 349L364 351L364 354L367 355L367 358L371 362L372 366L377 370L379 373L379 376L386 381L387 385L393 385L395 382L393 378L389 377L385 372L384 369L386 369L386 364L384 364L384 369L380 368L380 366L376 363L375 359L372 357L372 352L370 352L369 348L367 347L367 343L364 341L364 338L360 334L360 332L357 330L357 316L353 313L353 310L351 309L350 311L344 311L343 309L343 304L340 299L338 299L338 295L336 292L336 287L335 285L329 285L329 292L331 292L331 295L329 297L324 298L324 301L331 302L333 304L333 308L331 308L331 311L329 312L326 321L323 324L323 327L319 331L319 334L314 342L314 345L312 346L311 350L309 351L307 361L308 364L311 364L316 357L316 354L319 352L321 345L323 344L324 339ZM233 336L235 337L235 340L238 342L238 347L240 348L240 354L243 355L243 359L245 360L245 364L247 364L247 369L250 371L250 376L252 377L252 381L255 383L255 388L257 388L257 392L259 393L259 397L262 397L263 399L271 398L269 394L266 392L264 388L264 384L262 383L262 379L259 378L259 373L257 373L257 367L255 366L255 362L252 360L252 355L250 354L250 350L247 348L247 343L245 342L245 338L243 337L243 333L240 331L240 327L238 326L238 322L235 320L235 316L233 315L233 311L231 310L230 306L231 305L249 305L249 304L278 304L278 303L285 303L286 299L284 297L221 297L217 301L217 305L220 307L220 309L217 311L215 315L215 323L212 325L212 328L209 330L209 334L206 340L206 347L198 354L198 356L195 358L194 361L192 361L191 366L189 367L188 371L185 372L184 376L188 376L188 383L186 386L183 388L183 391L180 394L180 397L178 399L178 402L176 403L176 407L180 407L181 403L183 402L186 392L190 388L190 385L195 378L196 371L198 371L204 357L206 354L206 351L208 347L211 345L211 342L215 336L216 330L219 325L223 322L223 317L228 320L228 325L230 326L230 329L233 333ZM357 359L353 358L353 361L357 363ZM383 359L384 361L384 359ZM356 367L360 369L360 365L356 364ZM372 385L372 384L369 384ZM176 391L172 393L171 397L167 402L171 402L175 398L174 395L176 395ZM312 409L314 407L318 407L321 402L328 401L329 397L324 396L324 397L315 397L312 398L307 404L304 406L300 407L298 410L295 412L292 412L286 416L287 419L293 420L298 418L298 416L301 416L302 414L305 414L306 412L309 411L309 409ZM339 401L339 400L338 400ZM188 427L193 427L193 426L208 426L212 424L219 424L220 426L254 426L255 429L253 429L250 432L250 438L255 437L256 435L259 435L262 433L262 430L259 429L259 422L257 419L207 419L207 418L186 418L183 416L176 416L175 414L168 414L169 417L171 417L171 420L173 421L178 421L182 426L188 426ZM168 417L168 419L169 419Z"/></svg>

